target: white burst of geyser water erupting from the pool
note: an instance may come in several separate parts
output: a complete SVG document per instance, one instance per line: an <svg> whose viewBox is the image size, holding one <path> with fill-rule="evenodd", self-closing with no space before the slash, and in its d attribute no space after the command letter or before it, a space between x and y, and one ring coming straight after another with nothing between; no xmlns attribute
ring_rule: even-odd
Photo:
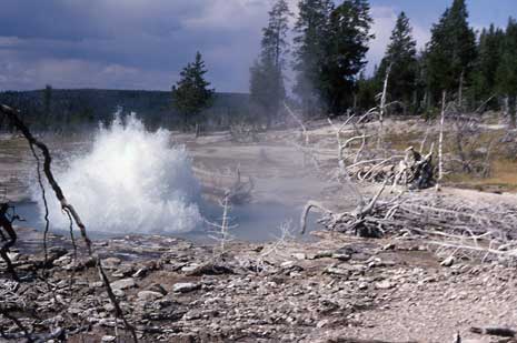
<svg viewBox="0 0 517 343"><path fill-rule="evenodd" d="M177 233L201 222L200 186L187 152L170 147L169 131L146 131L135 114L101 127L91 151L72 157L57 179L92 231ZM59 203L47 198L52 226L68 228Z"/></svg>

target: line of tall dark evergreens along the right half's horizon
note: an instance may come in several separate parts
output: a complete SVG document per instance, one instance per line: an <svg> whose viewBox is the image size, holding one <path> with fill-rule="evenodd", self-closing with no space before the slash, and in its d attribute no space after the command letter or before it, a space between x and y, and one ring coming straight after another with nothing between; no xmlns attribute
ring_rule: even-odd
<svg viewBox="0 0 517 343"><path fill-rule="evenodd" d="M375 107L388 84L392 111L433 113L445 91L465 111L505 110L515 122L517 95L517 22L476 32L465 0L454 0L431 28L421 51L409 18L398 16L390 42L372 75L365 60L372 18L367 0L300 0L296 23L286 0L277 0L264 29L261 52L250 69L251 101L275 120L287 100L286 71L296 72L292 92L306 117L338 115ZM294 33L289 42L289 33Z"/></svg>

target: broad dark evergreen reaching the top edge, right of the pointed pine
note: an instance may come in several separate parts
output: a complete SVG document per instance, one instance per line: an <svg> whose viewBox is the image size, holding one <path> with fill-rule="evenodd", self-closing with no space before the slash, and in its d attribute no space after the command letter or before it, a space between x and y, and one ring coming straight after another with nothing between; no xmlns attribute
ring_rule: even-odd
<svg viewBox="0 0 517 343"><path fill-rule="evenodd" d="M465 0L454 0L439 22L433 26L427 46L427 83L433 100L441 92L455 93L469 80L476 58L476 38L468 26Z"/></svg>

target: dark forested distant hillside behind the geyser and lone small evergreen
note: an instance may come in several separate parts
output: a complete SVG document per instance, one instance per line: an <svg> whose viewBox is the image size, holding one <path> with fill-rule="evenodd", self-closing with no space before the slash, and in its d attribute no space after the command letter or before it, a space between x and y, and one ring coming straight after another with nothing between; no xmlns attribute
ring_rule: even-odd
<svg viewBox="0 0 517 343"><path fill-rule="evenodd" d="M172 110L168 91L52 89L49 105L44 90L0 92L0 102L20 109L26 121L38 129L62 129L97 124L112 119L118 108L125 114L137 112L147 125L176 127L179 114ZM213 105L203 114L210 123L227 124L232 118L246 115L249 95L217 93ZM47 115L47 112L50 113ZM1 123L0 123L1 125Z"/></svg>

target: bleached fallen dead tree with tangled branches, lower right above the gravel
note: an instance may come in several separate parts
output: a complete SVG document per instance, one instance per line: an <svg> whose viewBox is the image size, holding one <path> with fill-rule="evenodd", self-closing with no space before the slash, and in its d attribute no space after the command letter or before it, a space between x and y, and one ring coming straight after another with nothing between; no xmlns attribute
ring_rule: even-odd
<svg viewBox="0 0 517 343"><path fill-rule="evenodd" d="M327 230L377 236L419 236L437 254L480 262L517 261L517 213L510 204L458 202L427 193L400 193L380 200L384 186L368 205L354 211L336 213L318 202L309 202L301 215L305 232L307 215L315 209L322 212L319 220Z"/></svg>

